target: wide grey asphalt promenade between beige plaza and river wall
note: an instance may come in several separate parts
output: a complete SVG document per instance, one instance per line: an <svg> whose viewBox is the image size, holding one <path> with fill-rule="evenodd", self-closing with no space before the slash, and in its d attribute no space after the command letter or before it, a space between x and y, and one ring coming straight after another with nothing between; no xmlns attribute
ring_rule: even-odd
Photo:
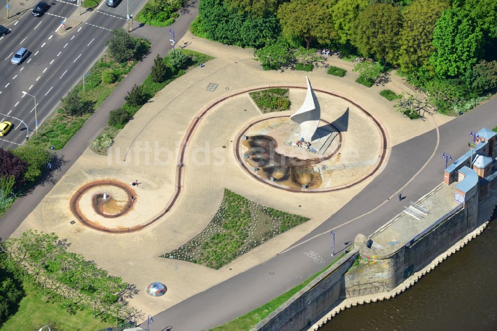
<svg viewBox="0 0 497 331"><path fill-rule="evenodd" d="M496 107L497 98L494 98L441 126L438 147L435 130L395 146L385 169L313 232L270 260L154 316L150 330L162 331L166 326L181 331L208 330L263 305L321 270L333 259L331 229L336 232L338 254L358 233L373 233L404 209L405 202L397 199L399 190L407 196L407 201L419 199L443 180L442 153L448 152L456 158L465 153L471 130L496 125ZM430 161L415 175L427 160ZM363 215L379 205L380 208ZM310 251L318 253L322 261L318 259L317 263L306 255Z"/></svg>

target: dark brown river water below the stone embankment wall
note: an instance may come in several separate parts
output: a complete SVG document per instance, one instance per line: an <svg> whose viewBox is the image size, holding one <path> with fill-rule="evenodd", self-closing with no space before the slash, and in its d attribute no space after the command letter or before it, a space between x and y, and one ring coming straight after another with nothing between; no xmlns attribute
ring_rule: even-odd
<svg viewBox="0 0 497 331"><path fill-rule="evenodd" d="M497 330L497 221L393 299L352 307L324 328Z"/></svg>

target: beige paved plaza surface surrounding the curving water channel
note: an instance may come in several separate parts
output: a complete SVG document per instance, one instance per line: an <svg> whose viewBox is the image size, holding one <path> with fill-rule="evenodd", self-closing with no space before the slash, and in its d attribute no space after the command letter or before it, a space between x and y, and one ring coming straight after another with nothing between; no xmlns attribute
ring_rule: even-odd
<svg viewBox="0 0 497 331"><path fill-rule="evenodd" d="M368 89L354 83L357 75L347 68L351 64L344 61L340 61L340 65L348 69L345 78L327 75L325 68L315 69L312 73L290 70L280 73L262 71L260 64L253 60L250 49L221 45L188 33L177 44L187 45L188 49L214 56L215 59L158 92L119 133L108 156L99 156L86 149L14 233L18 236L26 229L34 228L67 238L72 243L73 251L82 253L110 274L121 276L142 289L132 304L147 314L157 314L269 260L316 229L372 180L370 178L338 192L303 194L269 187L250 177L235 160L233 140L244 124L261 113L244 93L221 102L202 118L188 146L181 195L159 221L131 234L108 234L87 228L79 222L70 223L75 219L69 210L72 195L87 182L101 179L125 183L138 179L140 182L135 188L135 210L126 217L146 220L160 213L175 189L177 156L185 132L195 116L214 100L234 91L267 84L304 85L307 74L315 88L345 95L371 112L386 128L390 148L451 119L439 114L430 116L426 121L405 118L378 92L387 87L397 93L409 91L406 85L394 81L386 87ZM207 90L209 83L217 84L217 88ZM292 92L290 98L291 111L295 111L303 95ZM354 137L349 139L354 141ZM364 144L369 142L361 136L356 139L363 140ZM435 143L432 141L430 145ZM206 227L219 208L224 188L257 203L311 220L273 238L220 270L159 257L186 243ZM165 296L152 298L145 293L144 289L153 281L166 284Z"/></svg>

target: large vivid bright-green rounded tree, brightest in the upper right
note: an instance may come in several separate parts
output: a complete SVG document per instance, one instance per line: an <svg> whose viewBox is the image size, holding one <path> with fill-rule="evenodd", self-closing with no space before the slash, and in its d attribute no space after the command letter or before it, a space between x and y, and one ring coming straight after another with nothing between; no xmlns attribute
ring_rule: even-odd
<svg viewBox="0 0 497 331"><path fill-rule="evenodd" d="M430 62L441 76L464 74L482 54L483 33L463 11L445 10L433 30Z"/></svg>

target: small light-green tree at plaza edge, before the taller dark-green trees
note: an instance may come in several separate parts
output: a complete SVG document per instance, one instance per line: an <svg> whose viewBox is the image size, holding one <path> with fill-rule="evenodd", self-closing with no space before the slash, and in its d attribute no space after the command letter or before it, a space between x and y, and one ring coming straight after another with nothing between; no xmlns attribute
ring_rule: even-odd
<svg viewBox="0 0 497 331"><path fill-rule="evenodd" d="M262 63L264 70L278 70L293 59L293 50L289 43L280 38L274 44L268 44L253 53L256 60Z"/></svg>

